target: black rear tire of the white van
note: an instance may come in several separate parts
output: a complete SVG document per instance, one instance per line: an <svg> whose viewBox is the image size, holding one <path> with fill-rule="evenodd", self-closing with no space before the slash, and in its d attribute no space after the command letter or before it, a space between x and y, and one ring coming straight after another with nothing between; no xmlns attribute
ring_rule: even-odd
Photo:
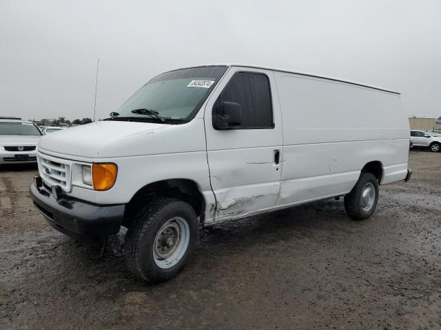
<svg viewBox="0 0 441 330"><path fill-rule="evenodd" d="M365 200L362 197L364 188L373 188L375 196L373 203L369 203L369 208L365 206ZM356 185L351 192L345 196L345 210L347 215L354 220L364 220L373 214L378 203L378 180L372 173L362 172Z"/></svg>

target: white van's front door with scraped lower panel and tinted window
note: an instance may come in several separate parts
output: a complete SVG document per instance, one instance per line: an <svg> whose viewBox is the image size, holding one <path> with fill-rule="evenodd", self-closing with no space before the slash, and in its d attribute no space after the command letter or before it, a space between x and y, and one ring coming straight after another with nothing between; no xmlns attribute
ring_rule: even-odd
<svg viewBox="0 0 441 330"><path fill-rule="evenodd" d="M282 122L271 71L232 67L205 107L207 160L216 197L214 221L272 208L280 189ZM240 104L242 121L215 129L213 109ZM215 110L216 111L216 110Z"/></svg>

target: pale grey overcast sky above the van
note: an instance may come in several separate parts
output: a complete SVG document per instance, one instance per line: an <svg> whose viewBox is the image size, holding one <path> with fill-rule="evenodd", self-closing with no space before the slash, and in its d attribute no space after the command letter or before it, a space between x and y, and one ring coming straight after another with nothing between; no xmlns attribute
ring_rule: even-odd
<svg viewBox="0 0 441 330"><path fill-rule="evenodd" d="M0 0L0 115L107 118L150 78L248 63L400 91L441 115L440 0Z"/></svg>

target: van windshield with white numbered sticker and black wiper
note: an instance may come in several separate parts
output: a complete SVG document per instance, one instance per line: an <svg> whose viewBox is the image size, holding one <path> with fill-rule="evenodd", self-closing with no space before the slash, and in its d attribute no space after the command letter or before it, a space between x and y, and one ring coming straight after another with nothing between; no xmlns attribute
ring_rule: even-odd
<svg viewBox="0 0 441 330"><path fill-rule="evenodd" d="M226 69L224 66L192 67L156 76L116 110L117 116L158 121L147 113L154 111L165 122L188 122Z"/></svg>

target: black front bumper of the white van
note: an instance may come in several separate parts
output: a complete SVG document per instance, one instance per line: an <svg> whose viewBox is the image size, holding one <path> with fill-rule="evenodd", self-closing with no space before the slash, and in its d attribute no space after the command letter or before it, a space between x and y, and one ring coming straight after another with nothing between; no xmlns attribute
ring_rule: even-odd
<svg viewBox="0 0 441 330"><path fill-rule="evenodd" d="M34 206L53 228L79 241L119 232L125 204L99 205L63 196L55 199L45 187L30 186Z"/></svg>

